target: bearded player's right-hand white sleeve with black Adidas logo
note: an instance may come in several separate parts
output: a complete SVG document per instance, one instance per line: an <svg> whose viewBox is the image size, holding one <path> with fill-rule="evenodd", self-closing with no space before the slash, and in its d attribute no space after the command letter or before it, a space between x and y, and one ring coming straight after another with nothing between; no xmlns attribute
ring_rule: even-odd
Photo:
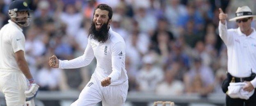
<svg viewBox="0 0 256 106"><path fill-rule="evenodd" d="M114 82L121 76L122 62L125 58L125 43L117 42L111 49L112 58L112 73L108 76L111 77L111 82Z"/></svg>

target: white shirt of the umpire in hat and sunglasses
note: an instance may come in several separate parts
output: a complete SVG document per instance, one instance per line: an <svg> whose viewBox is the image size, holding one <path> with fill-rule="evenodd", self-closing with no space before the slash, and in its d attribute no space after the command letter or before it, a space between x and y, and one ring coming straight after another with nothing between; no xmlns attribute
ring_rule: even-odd
<svg viewBox="0 0 256 106"><path fill-rule="evenodd" d="M226 22L225 22L226 23ZM235 77L249 77L251 69L256 73L256 31L246 36L237 29L227 29L219 22L219 36L228 50L228 72ZM256 87L256 78L251 81Z"/></svg>

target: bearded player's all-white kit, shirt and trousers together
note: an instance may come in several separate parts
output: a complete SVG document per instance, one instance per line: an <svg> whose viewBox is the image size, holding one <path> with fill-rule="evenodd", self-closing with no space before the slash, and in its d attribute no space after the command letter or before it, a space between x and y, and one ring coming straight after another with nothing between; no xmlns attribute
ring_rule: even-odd
<svg viewBox="0 0 256 106"><path fill-rule="evenodd" d="M59 60L59 68L87 66L94 56L97 60L90 82L72 106L94 106L100 101L107 106L124 104L128 91L128 76L125 69L126 45L123 38L111 28L109 34L110 38L104 43L89 38L84 55L73 60ZM101 81L106 77L111 77L111 84L103 87Z"/></svg>

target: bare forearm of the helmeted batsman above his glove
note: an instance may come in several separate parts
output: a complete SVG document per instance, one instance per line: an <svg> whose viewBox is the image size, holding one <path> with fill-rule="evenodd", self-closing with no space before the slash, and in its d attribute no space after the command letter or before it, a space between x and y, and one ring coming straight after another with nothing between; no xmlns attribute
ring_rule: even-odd
<svg viewBox="0 0 256 106"><path fill-rule="evenodd" d="M20 68L22 73L25 75L25 77L27 79L32 79L33 77L30 73L26 60L18 60L17 63L18 63L18 67Z"/></svg>

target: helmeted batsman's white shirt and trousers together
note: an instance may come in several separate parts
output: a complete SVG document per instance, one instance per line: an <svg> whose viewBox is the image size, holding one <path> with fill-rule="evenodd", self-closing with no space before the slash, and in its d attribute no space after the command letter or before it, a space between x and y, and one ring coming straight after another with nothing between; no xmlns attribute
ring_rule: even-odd
<svg viewBox="0 0 256 106"><path fill-rule="evenodd" d="M15 53L25 50L25 37L16 23L8 22L0 30L0 92L4 93L7 106L23 106L27 83L18 68Z"/></svg>

